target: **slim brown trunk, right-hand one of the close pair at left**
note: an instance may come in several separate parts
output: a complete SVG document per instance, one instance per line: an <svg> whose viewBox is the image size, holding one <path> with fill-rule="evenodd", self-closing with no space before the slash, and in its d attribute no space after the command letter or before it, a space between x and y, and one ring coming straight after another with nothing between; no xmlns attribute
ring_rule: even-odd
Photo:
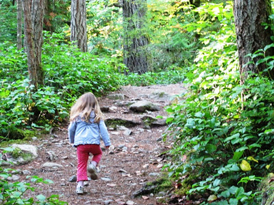
<svg viewBox="0 0 274 205"><path fill-rule="evenodd" d="M38 85L44 84L44 74L42 70L42 27L45 12L45 0L32 1L32 28L34 31L34 51Z"/></svg>

